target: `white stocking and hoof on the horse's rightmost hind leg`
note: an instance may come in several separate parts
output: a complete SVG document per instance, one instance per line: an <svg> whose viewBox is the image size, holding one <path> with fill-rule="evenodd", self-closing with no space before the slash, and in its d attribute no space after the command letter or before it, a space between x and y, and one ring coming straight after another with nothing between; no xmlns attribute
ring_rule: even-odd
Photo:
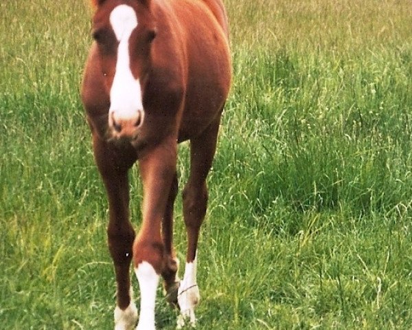
<svg viewBox="0 0 412 330"><path fill-rule="evenodd" d="M180 283L177 301L181 309L181 315L177 320L177 327L181 329L185 325L185 319L189 318L190 323L196 324L194 307L199 303L200 294L196 283L197 256L192 263L186 263L185 275Z"/></svg>

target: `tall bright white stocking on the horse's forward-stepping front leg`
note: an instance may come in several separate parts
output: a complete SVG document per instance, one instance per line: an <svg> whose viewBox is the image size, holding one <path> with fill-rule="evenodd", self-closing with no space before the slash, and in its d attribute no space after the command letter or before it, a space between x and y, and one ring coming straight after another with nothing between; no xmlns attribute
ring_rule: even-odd
<svg viewBox="0 0 412 330"><path fill-rule="evenodd" d="M140 287L140 314L136 330L155 330L155 302L159 275L146 261L135 269Z"/></svg>

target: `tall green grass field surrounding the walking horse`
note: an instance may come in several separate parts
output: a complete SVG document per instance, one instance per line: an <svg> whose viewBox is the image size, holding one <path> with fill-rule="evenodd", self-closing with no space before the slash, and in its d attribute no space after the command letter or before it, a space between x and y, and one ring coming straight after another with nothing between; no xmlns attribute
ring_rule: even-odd
<svg viewBox="0 0 412 330"><path fill-rule="evenodd" d="M412 329L411 2L225 3L234 80L197 329ZM91 10L0 11L1 329L113 329L106 197L78 93ZM187 158L182 145L180 186ZM175 210L183 261L180 198ZM159 287L157 325L175 321Z"/></svg>

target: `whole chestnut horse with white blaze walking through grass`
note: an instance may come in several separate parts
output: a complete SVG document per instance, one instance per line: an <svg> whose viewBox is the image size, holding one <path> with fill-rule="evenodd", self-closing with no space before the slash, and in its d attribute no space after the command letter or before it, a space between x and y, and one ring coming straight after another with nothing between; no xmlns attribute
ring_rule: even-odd
<svg viewBox="0 0 412 330"><path fill-rule="evenodd" d="M108 249L117 281L115 329L131 329L137 322L131 261L141 296L136 329L155 329L159 276L168 301L181 310L178 327L186 321L194 325L206 177L231 83L225 8L221 0L92 3L95 42L84 71L82 102L108 196ZM172 231L177 144L185 140L190 140L190 175L183 189L187 256L180 281ZM144 187L137 236L128 210L128 170L135 162Z"/></svg>

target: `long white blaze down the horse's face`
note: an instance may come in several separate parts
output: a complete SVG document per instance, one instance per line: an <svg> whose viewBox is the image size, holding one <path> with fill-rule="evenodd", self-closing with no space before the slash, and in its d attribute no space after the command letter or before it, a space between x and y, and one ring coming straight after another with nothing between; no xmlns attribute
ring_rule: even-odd
<svg viewBox="0 0 412 330"><path fill-rule="evenodd" d="M111 107L109 113L115 112L115 118L128 120L143 114L141 86L130 69L128 41L137 27L135 10L129 5L118 5L110 14L110 23L115 32L119 47L117 48L116 72L110 91Z"/></svg>

